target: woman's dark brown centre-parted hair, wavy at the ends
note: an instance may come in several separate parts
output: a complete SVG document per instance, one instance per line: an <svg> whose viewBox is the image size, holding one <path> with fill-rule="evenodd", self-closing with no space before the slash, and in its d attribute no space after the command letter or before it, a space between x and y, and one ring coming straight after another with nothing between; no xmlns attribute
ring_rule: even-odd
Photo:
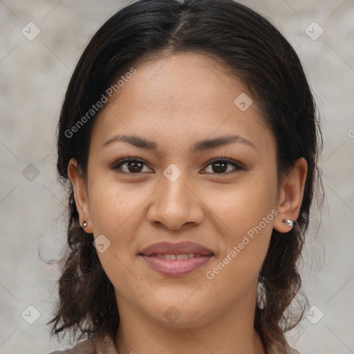
<svg viewBox="0 0 354 354"><path fill-rule="evenodd" d="M68 190L68 247L60 261L59 301L49 322L52 334L113 338L120 322L114 288L93 247L93 234L80 227L67 172L68 162L75 158L86 176L91 131L100 111L80 129L74 128L75 133L68 131L78 127L107 88L134 64L175 53L204 55L245 84L276 139L279 181L297 159L304 157L308 163L297 223L286 236L272 230L259 274L254 328L266 351L283 350L284 333L299 323L307 304L304 298L306 304L297 311L292 308L301 289L298 261L310 207L319 195L317 187L322 187L317 168L322 133L295 50L270 21L232 0L136 1L106 21L82 53L57 127L57 174Z"/></svg>

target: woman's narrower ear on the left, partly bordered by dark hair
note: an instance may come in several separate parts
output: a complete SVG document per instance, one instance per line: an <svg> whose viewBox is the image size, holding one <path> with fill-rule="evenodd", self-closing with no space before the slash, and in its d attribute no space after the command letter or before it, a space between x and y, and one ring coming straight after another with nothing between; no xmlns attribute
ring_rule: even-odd
<svg viewBox="0 0 354 354"><path fill-rule="evenodd" d="M86 180L84 176L82 176L82 171L74 158L71 158L68 163L68 178L73 185L76 209L80 216L80 225L86 220L87 226L84 228L84 231L91 234L93 230L90 219L90 210L88 208Z"/></svg>

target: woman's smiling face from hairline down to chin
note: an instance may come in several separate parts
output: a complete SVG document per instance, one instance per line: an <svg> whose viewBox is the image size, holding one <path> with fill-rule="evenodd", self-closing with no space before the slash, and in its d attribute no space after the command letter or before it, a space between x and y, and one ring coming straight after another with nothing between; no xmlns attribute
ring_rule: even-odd
<svg viewBox="0 0 354 354"><path fill-rule="evenodd" d="M185 326L254 310L286 202L276 142L250 98L221 66L184 53L137 65L104 106L74 187L120 313Z"/></svg>

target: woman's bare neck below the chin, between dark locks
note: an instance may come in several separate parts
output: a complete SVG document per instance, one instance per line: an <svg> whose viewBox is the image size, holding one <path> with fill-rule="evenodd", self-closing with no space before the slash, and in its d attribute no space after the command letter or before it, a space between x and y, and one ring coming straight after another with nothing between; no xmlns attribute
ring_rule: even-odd
<svg viewBox="0 0 354 354"><path fill-rule="evenodd" d="M120 298L120 326L115 337L117 353L185 354L188 348L188 353L192 354L265 354L254 330L254 315L250 316L255 298L244 297L241 302L212 317L210 322L185 323L177 327L147 317Z"/></svg>

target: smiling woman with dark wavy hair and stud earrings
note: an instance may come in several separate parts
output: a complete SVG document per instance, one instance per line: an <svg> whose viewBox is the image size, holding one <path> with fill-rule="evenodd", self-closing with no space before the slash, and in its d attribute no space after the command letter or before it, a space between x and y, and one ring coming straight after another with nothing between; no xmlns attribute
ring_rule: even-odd
<svg viewBox="0 0 354 354"><path fill-rule="evenodd" d="M75 68L57 148L53 333L86 339L66 353L297 353L321 133L272 24L232 0L120 10Z"/></svg>

